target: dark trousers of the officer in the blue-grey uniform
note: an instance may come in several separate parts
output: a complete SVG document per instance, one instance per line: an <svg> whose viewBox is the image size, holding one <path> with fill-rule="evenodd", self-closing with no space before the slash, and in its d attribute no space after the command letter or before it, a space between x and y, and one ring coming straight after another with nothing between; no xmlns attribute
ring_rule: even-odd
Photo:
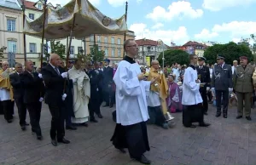
<svg viewBox="0 0 256 165"><path fill-rule="evenodd" d="M221 114L221 105L223 104L223 114L228 115L228 106L230 100L229 94L229 90L216 90L217 114Z"/></svg>

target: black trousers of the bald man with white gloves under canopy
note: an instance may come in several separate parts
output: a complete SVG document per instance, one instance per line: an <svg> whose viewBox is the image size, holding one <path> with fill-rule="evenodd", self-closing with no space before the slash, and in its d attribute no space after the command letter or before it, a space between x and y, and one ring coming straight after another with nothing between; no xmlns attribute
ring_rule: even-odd
<svg viewBox="0 0 256 165"><path fill-rule="evenodd" d="M51 114L51 125L50 125L50 132L49 132L50 138L62 139L65 136L64 108L61 105L57 105L57 104L49 104L48 106Z"/></svg>

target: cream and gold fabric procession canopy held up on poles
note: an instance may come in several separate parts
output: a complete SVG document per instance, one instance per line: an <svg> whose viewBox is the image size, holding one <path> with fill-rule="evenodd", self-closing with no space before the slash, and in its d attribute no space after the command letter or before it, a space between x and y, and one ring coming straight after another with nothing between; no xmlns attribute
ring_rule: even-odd
<svg viewBox="0 0 256 165"><path fill-rule="evenodd" d="M61 9L49 7L46 12L44 38L49 40L69 37L72 26L73 37L76 38L88 37L91 34L124 34L127 31L125 14L117 20L110 19L88 0L72 0ZM26 16L24 33L42 37L43 22L44 14L37 20Z"/></svg>

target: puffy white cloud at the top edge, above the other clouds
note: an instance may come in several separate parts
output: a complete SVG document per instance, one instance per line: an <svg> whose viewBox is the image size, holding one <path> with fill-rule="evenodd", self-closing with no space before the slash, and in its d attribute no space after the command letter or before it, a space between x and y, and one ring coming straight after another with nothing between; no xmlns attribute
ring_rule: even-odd
<svg viewBox="0 0 256 165"><path fill-rule="evenodd" d="M168 9L157 6L152 13L147 14L147 18L152 20L173 20L175 17L198 18L201 17L203 11L201 9L193 9L191 3L186 1L177 1L172 3Z"/></svg>

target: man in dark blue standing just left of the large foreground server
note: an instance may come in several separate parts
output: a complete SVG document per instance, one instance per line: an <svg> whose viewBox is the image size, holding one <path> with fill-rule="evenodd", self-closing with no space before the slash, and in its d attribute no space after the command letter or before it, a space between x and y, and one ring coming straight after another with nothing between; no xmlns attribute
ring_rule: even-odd
<svg viewBox="0 0 256 165"><path fill-rule="evenodd" d="M103 95L104 95L104 101L106 102L106 105L110 108L113 107L113 103L109 102L111 101L111 85L113 83L113 68L109 66L110 60L105 60L105 67L103 68Z"/></svg>

